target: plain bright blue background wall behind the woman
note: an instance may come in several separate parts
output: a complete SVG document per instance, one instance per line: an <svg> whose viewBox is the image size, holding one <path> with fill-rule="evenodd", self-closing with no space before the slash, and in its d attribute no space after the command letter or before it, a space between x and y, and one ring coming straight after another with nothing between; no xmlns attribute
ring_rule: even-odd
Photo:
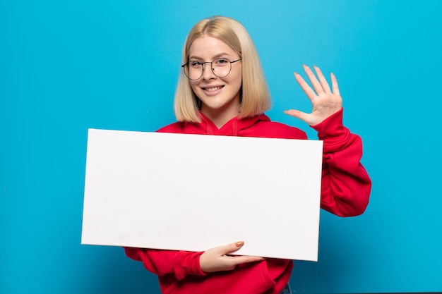
<svg viewBox="0 0 442 294"><path fill-rule="evenodd" d="M80 245L88 128L174 121L181 47L221 14L249 30L275 121L316 134L292 75L338 77L364 140L366 213L321 213L296 293L442 290L441 1L0 1L0 293L159 293L119 247ZM304 74L305 76L305 74Z"/></svg>

